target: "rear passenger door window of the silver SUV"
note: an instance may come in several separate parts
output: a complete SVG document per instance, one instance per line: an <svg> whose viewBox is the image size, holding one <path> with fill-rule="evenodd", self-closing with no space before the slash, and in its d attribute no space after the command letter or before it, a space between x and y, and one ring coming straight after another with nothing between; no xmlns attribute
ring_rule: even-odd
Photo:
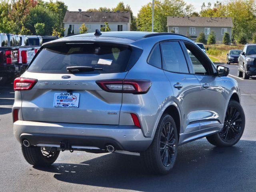
<svg viewBox="0 0 256 192"><path fill-rule="evenodd" d="M160 44L163 69L170 72L189 73L188 65L179 42Z"/></svg>

